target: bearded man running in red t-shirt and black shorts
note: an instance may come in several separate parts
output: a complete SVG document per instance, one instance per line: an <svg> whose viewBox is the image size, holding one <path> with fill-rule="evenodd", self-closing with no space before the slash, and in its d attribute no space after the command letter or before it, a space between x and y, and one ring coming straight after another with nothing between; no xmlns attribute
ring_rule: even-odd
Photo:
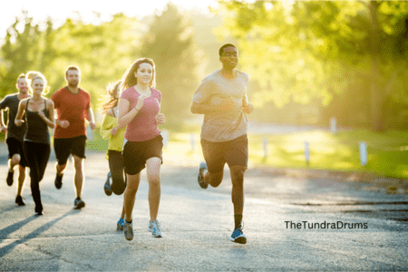
<svg viewBox="0 0 408 272"><path fill-rule="evenodd" d="M81 199L84 180L83 159L85 159L86 147L85 118L89 121L92 130L95 129L95 121L91 107L91 95L78 87L81 82L81 71L77 66L69 66L66 69L65 81L68 85L53 93L51 98L57 112L53 133L53 148L58 160L54 183L56 189L61 189L63 170L70 154L73 154L75 169L73 184L76 190L73 208L82 209L85 207L85 202Z"/></svg>

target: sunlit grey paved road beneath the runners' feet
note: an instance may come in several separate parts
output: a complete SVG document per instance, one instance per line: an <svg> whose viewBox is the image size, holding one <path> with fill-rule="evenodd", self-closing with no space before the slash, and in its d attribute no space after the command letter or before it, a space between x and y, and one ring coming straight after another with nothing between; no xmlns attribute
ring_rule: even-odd
<svg viewBox="0 0 408 272"><path fill-rule="evenodd" d="M135 238L129 242L116 231L122 198L103 193L107 160L103 153L87 156L83 210L72 209L72 165L63 188L54 188L53 156L41 183L43 217L33 216L28 182L26 206L16 207L15 184L7 187L0 180L1 271L408 269L406 194L390 195L368 182L251 169L244 215L248 243L238 245L228 241L233 227L228 171L219 188L202 190L191 161L167 158L159 217L164 238L151 238L147 231L143 172L133 211Z"/></svg>

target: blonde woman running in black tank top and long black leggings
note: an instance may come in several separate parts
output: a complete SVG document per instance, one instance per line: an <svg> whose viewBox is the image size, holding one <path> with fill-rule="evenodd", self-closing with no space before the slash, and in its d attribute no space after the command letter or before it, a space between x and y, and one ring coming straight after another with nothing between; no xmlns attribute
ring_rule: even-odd
<svg viewBox="0 0 408 272"><path fill-rule="evenodd" d="M48 128L55 127L53 117L53 101L43 96L47 81L42 73L29 72L26 75L33 97L23 99L18 105L15 125L24 123L27 130L24 135L24 153L30 167L31 193L35 203L35 215L43 215L41 202L40 181L44 178L44 171L50 158L50 133Z"/></svg>

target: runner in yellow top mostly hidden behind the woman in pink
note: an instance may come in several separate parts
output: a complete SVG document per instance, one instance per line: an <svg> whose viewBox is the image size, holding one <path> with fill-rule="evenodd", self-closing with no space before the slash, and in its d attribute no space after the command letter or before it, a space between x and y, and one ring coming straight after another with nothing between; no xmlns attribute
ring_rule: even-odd
<svg viewBox="0 0 408 272"><path fill-rule="evenodd" d="M108 151L106 157L109 160L108 178L103 186L106 195L121 195L126 188L126 178L124 174L124 161L121 151L123 148L124 132L126 128L118 129L118 102L121 81L111 83L107 87L108 101L102 106L102 113L105 114L101 127L101 136L103 140L109 139ZM126 175L124 175L126 177ZM112 184L110 180L112 179ZM124 225L124 206L121 209L121 218L117 223L117 229L123 230Z"/></svg>

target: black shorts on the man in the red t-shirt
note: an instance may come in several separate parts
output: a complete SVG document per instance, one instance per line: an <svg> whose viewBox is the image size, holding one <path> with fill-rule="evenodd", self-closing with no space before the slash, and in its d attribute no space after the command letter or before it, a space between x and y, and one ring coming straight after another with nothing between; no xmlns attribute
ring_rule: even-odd
<svg viewBox="0 0 408 272"><path fill-rule="evenodd" d="M66 163L71 154L85 159L86 136L53 139L53 150L59 165Z"/></svg>

